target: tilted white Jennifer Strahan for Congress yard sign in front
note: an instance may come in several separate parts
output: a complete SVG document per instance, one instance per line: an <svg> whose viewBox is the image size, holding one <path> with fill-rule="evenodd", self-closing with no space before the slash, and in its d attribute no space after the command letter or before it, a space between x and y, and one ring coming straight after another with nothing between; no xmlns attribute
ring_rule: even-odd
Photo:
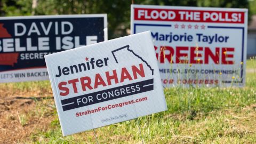
<svg viewBox="0 0 256 144"><path fill-rule="evenodd" d="M63 135L167 110L150 31L45 61Z"/></svg>

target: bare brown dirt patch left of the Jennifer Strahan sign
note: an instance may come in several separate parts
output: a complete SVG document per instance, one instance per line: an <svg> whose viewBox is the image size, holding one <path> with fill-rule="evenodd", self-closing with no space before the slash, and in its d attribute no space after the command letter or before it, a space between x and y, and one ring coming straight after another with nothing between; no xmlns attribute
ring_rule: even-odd
<svg viewBox="0 0 256 144"><path fill-rule="evenodd" d="M0 89L0 143L23 143L32 132L46 131L53 120L53 97L46 96L51 93L25 93Z"/></svg>

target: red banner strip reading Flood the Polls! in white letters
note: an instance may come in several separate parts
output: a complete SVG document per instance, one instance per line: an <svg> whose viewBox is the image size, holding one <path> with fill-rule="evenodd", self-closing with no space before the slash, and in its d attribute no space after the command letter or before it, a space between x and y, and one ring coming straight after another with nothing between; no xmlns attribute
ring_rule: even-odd
<svg viewBox="0 0 256 144"><path fill-rule="evenodd" d="M134 8L134 20L244 23L244 12Z"/></svg>

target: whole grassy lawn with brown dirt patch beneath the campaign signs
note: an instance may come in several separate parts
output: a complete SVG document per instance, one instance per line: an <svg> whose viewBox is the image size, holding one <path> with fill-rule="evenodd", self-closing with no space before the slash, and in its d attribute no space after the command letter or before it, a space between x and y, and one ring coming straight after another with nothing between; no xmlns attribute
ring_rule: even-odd
<svg viewBox="0 0 256 144"><path fill-rule="evenodd" d="M99 143L141 143L139 127L145 143L256 143L256 60L246 63L245 87L165 89L167 111L95 129ZM93 130L62 137L52 97L49 81L0 84L0 143L96 143Z"/></svg>

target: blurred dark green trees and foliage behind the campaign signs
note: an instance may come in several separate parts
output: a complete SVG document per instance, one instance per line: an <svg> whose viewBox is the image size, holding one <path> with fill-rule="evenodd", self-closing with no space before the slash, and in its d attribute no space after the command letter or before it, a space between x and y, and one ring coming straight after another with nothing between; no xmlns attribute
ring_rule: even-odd
<svg viewBox="0 0 256 144"><path fill-rule="evenodd" d="M235 7L256 14L256 0L0 0L0 15L108 14L109 39L129 35L130 5Z"/></svg>

